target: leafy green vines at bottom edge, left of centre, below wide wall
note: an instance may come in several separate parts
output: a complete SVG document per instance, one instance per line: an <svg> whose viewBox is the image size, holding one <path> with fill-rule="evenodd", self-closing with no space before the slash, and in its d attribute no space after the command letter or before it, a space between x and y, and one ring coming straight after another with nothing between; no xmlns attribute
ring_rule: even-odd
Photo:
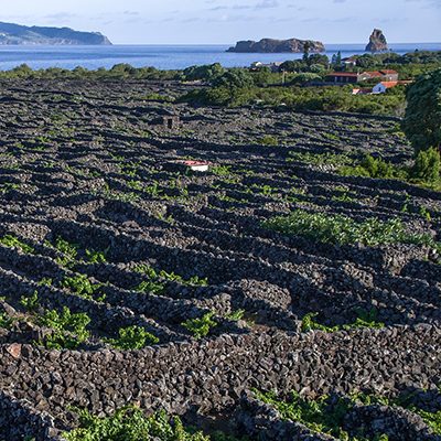
<svg viewBox="0 0 441 441"><path fill-rule="evenodd" d="M79 429L63 433L66 441L209 441L202 432L192 433L182 421L160 411L147 417L141 409L127 407L111 417L98 418L79 411Z"/></svg>

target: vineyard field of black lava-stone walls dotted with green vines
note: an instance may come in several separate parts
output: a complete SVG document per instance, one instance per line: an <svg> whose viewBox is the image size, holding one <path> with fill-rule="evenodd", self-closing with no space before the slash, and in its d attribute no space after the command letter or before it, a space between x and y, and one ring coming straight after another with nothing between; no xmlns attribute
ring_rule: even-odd
<svg viewBox="0 0 441 441"><path fill-rule="evenodd" d="M441 193L341 172L410 161L399 121L168 103L187 87L0 84L0 440L129 404L441 440Z"/></svg>

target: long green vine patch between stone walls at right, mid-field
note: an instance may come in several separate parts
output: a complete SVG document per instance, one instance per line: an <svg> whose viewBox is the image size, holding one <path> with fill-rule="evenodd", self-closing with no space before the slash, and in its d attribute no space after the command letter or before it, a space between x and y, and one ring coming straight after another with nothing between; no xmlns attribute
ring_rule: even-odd
<svg viewBox="0 0 441 441"><path fill-rule="evenodd" d="M376 217L356 222L341 214L309 213L297 209L262 224L279 233L302 236L314 241L338 245L418 244L439 247L428 234L407 233L400 219L381 222Z"/></svg>

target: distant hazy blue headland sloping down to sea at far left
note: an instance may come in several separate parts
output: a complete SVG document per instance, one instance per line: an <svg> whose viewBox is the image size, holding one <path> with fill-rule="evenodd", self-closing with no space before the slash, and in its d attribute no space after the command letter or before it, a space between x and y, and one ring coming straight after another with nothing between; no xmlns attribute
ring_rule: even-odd
<svg viewBox="0 0 441 441"><path fill-rule="evenodd" d="M22 26L0 22L0 44L111 44L99 32L79 32L71 28Z"/></svg>

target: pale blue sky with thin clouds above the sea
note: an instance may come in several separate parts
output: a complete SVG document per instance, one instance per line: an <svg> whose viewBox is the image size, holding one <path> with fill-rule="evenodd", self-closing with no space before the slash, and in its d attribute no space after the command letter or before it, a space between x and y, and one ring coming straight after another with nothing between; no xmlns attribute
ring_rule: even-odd
<svg viewBox="0 0 441 441"><path fill-rule="evenodd" d="M441 0L13 0L0 21L100 31L116 44L299 37L440 42Z"/></svg>

